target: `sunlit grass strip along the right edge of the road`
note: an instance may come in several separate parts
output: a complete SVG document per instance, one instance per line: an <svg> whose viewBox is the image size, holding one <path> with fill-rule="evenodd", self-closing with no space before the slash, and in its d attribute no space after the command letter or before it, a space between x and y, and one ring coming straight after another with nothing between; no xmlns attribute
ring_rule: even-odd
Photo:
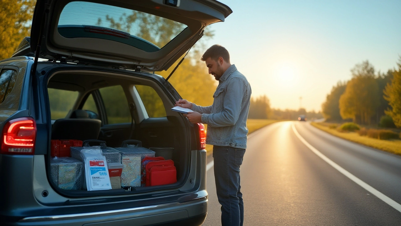
<svg viewBox="0 0 401 226"><path fill-rule="evenodd" d="M378 140L375 138L369 138L366 136L359 136L356 132L339 132L336 129L331 129L328 127L328 123L310 123L314 127L328 132L334 136L349 140L358 144L363 144L372 148L390 152L393 154L401 155L401 140Z"/></svg>

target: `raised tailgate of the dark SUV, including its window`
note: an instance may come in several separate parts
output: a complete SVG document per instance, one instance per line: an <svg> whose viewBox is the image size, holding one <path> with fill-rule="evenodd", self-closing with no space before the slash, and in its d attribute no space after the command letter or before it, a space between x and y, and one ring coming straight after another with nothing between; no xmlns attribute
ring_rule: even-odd
<svg viewBox="0 0 401 226"><path fill-rule="evenodd" d="M167 70L231 12L215 0L37 0L30 47L50 60Z"/></svg>

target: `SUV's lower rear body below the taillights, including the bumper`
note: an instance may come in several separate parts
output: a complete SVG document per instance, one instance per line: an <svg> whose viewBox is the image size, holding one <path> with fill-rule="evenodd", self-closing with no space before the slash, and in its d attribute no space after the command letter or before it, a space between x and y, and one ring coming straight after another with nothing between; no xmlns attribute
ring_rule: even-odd
<svg viewBox="0 0 401 226"><path fill-rule="evenodd" d="M43 156L6 156L7 161L0 164L0 169L3 166L11 168L10 165L16 166L22 162L27 170L0 175L0 181L9 182L6 183L8 186L0 186L0 191L3 191L0 195L0 225L148 226L186 222L190 218L207 214L206 151L193 150L191 155L191 170L187 182L179 190L96 199L67 198L53 191L44 173ZM0 160L2 157L4 156L0 155ZM38 162L34 164L34 161ZM34 172L42 174L34 173L32 177L24 173L35 167ZM21 178L26 179L25 187L16 186L17 183L20 184L20 180L15 178L20 178L18 176L21 173L25 176ZM47 197L41 195L44 190L49 191Z"/></svg>

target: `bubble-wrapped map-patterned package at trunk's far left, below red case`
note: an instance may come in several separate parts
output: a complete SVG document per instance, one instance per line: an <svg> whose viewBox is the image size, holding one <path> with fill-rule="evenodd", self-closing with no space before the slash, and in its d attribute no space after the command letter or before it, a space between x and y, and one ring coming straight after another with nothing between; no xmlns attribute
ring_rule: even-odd
<svg viewBox="0 0 401 226"><path fill-rule="evenodd" d="M83 162L70 157L50 159L53 182L61 189L77 190L82 187Z"/></svg>

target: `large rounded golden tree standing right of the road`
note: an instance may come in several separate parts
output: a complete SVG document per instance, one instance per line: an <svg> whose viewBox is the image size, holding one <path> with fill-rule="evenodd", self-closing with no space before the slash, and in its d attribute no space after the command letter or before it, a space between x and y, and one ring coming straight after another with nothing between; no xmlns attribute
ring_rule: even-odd
<svg viewBox="0 0 401 226"><path fill-rule="evenodd" d="M355 123L371 124L379 107L379 86L375 80L375 69L364 61L351 69L352 79L340 97L340 115L353 119Z"/></svg>

